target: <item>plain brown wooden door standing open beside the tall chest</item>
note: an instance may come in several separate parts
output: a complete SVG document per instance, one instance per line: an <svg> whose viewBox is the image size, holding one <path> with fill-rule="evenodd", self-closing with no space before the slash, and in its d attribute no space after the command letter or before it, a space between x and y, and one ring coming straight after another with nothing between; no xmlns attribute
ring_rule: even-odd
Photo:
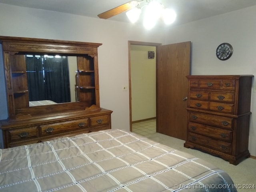
<svg viewBox="0 0 256 192"><path fill-rule="evenodd" d="M190 44L156 47L156 132L186 140Z"/></svg>

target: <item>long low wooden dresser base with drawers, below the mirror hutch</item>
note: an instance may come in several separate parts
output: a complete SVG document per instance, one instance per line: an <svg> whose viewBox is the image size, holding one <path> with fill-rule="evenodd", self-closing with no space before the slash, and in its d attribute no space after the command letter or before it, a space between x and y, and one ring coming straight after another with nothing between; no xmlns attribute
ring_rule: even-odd
<svg viewBox="0 0 256 192"><path fill-rule="evenodd" d="M111 110L60 114L14 122L2 121L4 148L38 143L54 138L111 129Z"/></svg>

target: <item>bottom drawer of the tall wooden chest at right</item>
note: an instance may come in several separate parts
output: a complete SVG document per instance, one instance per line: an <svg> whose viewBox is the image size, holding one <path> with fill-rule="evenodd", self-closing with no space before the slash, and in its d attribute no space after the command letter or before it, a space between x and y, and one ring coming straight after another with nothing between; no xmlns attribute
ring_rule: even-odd
<svg viewBox="0 0 256 192"><path fill-rule="evenodd" d="M190 142L200 144L204 147L212 148L212 149L220 151L220 152L224 152L227 154L232 153L232 143L229 143L229 142L210 138L207 136L202 136L200 134L195 134L192 132L188 133L188 140Z"/></svg>

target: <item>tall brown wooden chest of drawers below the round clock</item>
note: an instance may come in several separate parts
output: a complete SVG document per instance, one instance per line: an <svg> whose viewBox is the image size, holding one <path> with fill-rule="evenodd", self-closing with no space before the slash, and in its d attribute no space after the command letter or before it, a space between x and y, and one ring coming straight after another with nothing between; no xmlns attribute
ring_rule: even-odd
<svg viewBox="0 0 256 192"><path fill-rule="evenodd" d="M234 165L250 156L252 77L187 76L188 136L184 147L220 156Z"/></svg>

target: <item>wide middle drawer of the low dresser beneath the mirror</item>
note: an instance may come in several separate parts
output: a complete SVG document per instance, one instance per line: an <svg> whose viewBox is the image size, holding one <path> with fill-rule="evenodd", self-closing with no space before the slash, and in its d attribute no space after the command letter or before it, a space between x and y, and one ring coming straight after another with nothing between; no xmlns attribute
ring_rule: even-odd
<svg viewBox="0 0 256 192"><path fill-rule="evenodd" d="M73 130L88 128L88 118L63 123L59 122L55 124L41 125L39 127L41 136L69 132Z"/></svg>

